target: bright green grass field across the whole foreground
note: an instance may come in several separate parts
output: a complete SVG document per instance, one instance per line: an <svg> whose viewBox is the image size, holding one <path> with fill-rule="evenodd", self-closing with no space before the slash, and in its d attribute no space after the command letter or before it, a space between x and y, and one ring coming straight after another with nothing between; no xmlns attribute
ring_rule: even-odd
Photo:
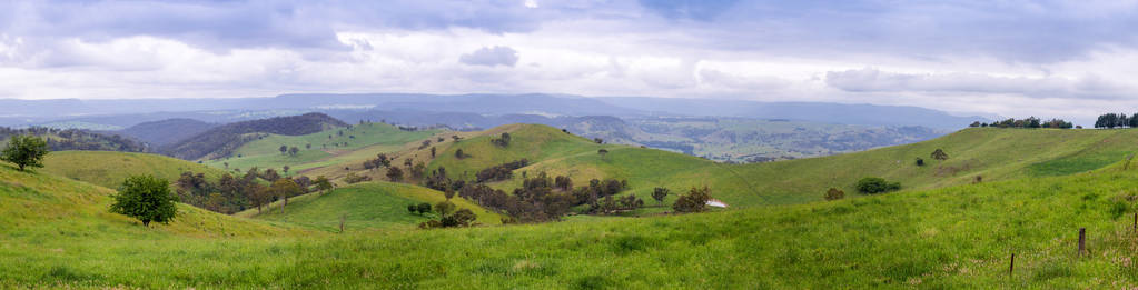
<svg viewBox="0 0 1138 290"><path fill-rule="evenodd" d="M10 169L0 175L30 187L82 187ZM2 205L43 194L3 184ZM115 218L99 222L101 230L67 227L104 219L33 223L69 208L15 206L0 212L0 264L20 266L0 268L0 285L1124 289L1138 285L1129 219L1136 188L1138 171L1113 167L714 214L263 238L195 237L170 231L185 224L143 230ZM18 225L8 222L20 215ZM1088 232L1083 257L1075 255L1079 227ZM1012 252L1016 271L1008 275Z"/></svg>

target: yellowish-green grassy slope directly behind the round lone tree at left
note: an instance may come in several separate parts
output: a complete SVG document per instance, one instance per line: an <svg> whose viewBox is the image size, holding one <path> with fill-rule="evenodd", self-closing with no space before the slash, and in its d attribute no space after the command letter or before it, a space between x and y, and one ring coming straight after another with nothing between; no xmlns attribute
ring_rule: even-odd
<svg viewBox="0 0 1138 290"><path fill-rule="evenodd" d="M204 173L212 181L224 174L221 169L182 159L133 152L57 151L48 154L43 165L39 171L112 189L131 175L151 174L174 182L183 172Z"/></svg>

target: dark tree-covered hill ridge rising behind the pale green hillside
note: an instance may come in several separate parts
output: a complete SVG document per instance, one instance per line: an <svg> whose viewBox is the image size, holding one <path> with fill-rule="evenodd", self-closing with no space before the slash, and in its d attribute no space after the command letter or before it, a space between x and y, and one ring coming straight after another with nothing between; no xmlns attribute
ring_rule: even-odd
<svg viewBox="0 0 1138 290"><path fill-rule="evenodd" d="M347 125L320 113L246 121L211 129L185 140L164 146L159 151L182 159L223 157L231 155L241 144L259 138L254 133L304 135Z"/></svg>

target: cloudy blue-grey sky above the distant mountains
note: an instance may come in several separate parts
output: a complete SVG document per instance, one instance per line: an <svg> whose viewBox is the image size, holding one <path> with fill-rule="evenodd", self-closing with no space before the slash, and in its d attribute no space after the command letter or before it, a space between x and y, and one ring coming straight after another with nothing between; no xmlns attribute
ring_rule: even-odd
<svg viewBox="0 0 1138 290"><path fill-rule="evenodd" d="M0 98L550 92L1138 110L1138 1L5 1Z"/></svg>

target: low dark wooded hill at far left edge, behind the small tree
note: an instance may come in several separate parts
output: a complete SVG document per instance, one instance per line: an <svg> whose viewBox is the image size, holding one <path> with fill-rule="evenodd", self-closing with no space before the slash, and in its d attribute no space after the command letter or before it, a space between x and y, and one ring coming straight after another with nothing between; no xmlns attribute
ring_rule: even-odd
<svg viewBox="0 0 1138 290"><path fill-rule="evenodd" d="M30 129L10 129L0 127L0 141L7 144L7 140L11 135L25 135L32 134L43 138L48 141L48 149L51 151L63 151L63 150L88 150L88 151L126 151L126 152L143 152L147 151L146 144L133 140L129 136L121 136L116 134L102 134L96 133L86 130L76 129L49 129L49 127L30 127ZM3 147L0 144L0 147Z"/></svg>

